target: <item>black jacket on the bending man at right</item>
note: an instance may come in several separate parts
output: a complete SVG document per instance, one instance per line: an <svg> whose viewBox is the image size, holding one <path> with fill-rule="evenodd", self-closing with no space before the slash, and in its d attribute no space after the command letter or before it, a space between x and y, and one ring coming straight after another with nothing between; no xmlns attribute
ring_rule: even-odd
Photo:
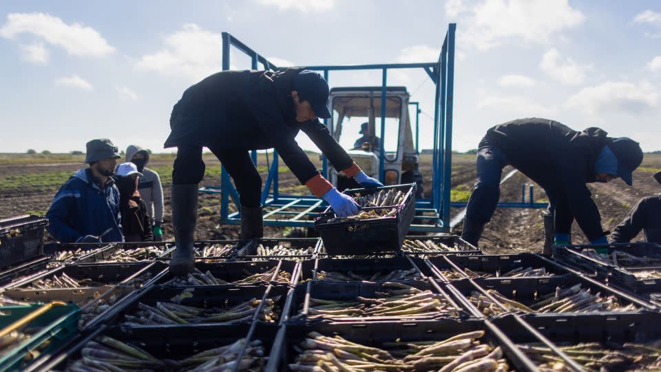
<svg viewBox="0 0 661 372"><path fill-rule="evenodd" d="M586 183L595 182L594 165L612 141L599 128L583 132L543 118L496 125L487 132L507 162L543 187L556 205L556 231L569 232L576 222L589 240L604 236L601 217Z"/></svg>

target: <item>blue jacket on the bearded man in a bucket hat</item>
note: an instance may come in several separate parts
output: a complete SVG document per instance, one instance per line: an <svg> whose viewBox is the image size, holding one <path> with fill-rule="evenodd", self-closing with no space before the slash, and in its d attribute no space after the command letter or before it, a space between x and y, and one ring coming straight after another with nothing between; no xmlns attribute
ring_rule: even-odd
<svg viewBox="0 0 661 372"><path fill-rule="evenodd" d="M89 168L80 169L60 187L46 213L48 232L59 242L76 242L85 235L100 236L103 242L123 242L119 212L119 190L113 180L105 189L92 181Z"/></svg>

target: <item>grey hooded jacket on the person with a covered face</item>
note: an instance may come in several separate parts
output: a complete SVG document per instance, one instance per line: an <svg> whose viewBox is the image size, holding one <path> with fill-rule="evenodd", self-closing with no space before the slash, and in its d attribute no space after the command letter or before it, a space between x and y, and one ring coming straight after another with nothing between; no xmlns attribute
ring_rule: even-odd
<svg viewBox="0 0 661 372"><path fill-rule="evenodd" d="M138 152L145 154L145 168L140 171L143 176L138 183L138 192L147 205L147 214L151 218L151 223L160 226L163 222L163 187L158 173L147 168L149 152L139 146L130 145L126 148L126 161L131 161Z"/></svg>

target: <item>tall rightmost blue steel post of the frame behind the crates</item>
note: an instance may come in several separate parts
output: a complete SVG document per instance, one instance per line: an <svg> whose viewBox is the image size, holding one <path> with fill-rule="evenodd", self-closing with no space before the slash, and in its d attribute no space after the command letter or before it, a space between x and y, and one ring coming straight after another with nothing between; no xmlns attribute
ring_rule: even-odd
<svg viewBox="0 0 661 372"><path fill-rule="evenodd" d="M450 223L450 178L452 177L452 107L454 106L454 30L457 24L450 23L448 30L448 82L445 108L445 179L443 182L443 226Z"/></svg>

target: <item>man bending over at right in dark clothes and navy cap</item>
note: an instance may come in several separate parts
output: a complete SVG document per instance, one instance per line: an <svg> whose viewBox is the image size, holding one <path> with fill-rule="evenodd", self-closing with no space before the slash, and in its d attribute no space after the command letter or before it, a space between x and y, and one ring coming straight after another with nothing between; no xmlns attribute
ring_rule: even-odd
<svg viewBox="0 0 661 372"><path fill-rule="evenodd" d="M544 188L549 198L544 225L555 244L569 244L574 219L592 244L606 244L599 210L585 184L620 177L631 185L631 172L640 163L637 142L607 137L596 127L577 132L543 118L496 125L477 150L477 182L468 199L461 237L477 245L498 205L503 167L512 165Z"/></svg>

